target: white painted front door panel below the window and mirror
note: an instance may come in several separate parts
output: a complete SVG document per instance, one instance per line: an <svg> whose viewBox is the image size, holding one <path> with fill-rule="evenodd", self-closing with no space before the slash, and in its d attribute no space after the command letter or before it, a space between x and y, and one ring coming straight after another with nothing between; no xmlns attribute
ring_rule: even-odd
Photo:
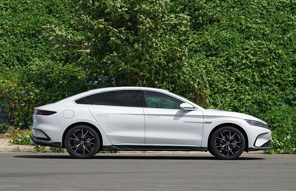
<svg viewBox="0 0 296 191"><path fill-rule="evenodd" d="M145 145L201 145L203 124L184 123L184 121L202 121L203 115L201 110L143 109L146 129ZM152 118L148 116L159 117Z"/></svg>

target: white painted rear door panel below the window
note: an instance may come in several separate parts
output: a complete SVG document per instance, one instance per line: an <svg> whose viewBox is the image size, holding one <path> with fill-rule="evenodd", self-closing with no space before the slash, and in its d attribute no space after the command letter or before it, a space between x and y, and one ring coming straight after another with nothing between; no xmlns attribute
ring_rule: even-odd
<svg viewBox="0 0 296 191"><path fill-rule="evenodd" d="M145 142L143 108L92 105L89 111L112 144ZM98 115L108 116L98 117Z"/></svg>

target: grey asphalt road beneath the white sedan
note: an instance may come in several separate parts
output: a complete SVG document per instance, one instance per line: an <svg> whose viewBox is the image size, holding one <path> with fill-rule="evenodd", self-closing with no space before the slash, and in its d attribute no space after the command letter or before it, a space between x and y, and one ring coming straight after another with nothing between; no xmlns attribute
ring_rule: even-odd
<svg viewBox="0 0 296 191"><path fill-rule="evenodd" d="M296 155L0 153L0 190L296 190Z"/></svg>

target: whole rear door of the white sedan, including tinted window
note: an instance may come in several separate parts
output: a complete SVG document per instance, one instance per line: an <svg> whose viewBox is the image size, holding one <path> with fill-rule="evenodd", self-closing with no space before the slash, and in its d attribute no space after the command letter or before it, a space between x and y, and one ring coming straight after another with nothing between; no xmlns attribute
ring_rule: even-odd
<svg viewBox="0 0 296 191"><path fill-rule="evenodd" d="M145 123L139 90L103 92L89 111L113 145L144 145Z"/></svg>

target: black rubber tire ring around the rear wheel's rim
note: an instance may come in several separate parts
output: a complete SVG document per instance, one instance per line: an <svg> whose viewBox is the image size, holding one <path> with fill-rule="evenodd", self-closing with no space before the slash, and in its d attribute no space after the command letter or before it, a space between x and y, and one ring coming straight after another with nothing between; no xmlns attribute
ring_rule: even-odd
<svg viewBox="0 0 296 191"><path fill-rule="evenodd" d="M96 145L94 146L94 149L89 154L86 154L86 155L78 155L78 154L75 154L72 151L72 149L70 148L69 139L71 137L71 134L74 131L78 130L78 129L88 130L88 131L90 131L94 135L94 138L95 138L95 141L96 141ZM89 159L89 158L91 158L92 156L94 156L95 154L98 153L99 147L100 147L100 138L98 136L98 133L93 128L91 128L91 127L89 127L87 125L78 125L78 126L73 127L72 129L70 129L68 131L68 133L66 134L66 136L65 136L65 147L66 147L67 152L71 156L73 156L74 158L76 158L76 159Z"/></svg>

